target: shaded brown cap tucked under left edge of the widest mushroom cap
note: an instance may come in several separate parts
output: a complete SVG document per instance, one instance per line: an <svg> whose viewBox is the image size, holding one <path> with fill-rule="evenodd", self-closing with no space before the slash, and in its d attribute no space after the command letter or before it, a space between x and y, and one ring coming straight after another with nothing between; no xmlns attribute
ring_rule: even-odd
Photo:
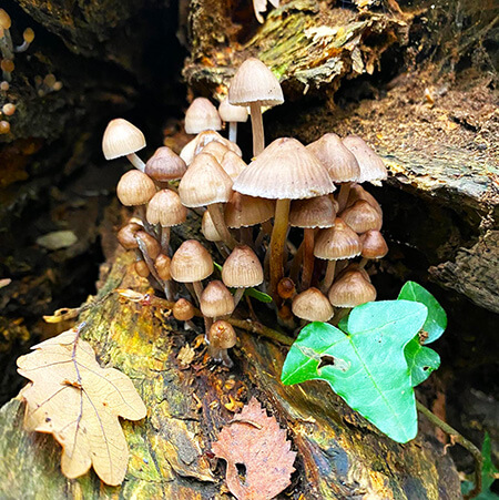
<svg viewBox="0 0 499 500"><path fill-rule="evenodd" d="M255 198L234 191L225 205L225 223L232 228L249 227L268 221L274 212L272 200Z"/></svg>

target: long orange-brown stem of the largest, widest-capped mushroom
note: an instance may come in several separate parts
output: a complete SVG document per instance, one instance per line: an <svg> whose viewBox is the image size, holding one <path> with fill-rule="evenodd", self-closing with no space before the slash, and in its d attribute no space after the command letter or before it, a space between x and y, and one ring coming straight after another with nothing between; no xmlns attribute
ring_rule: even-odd
<svg viewBox="0 0 499 500"><path fill-rule="evenodd" d="M277 284L284 276L284 245L286 243L291 200L277 200L275 205L274 228L271 236L271 295L276 305L281 303Z"/></svg>

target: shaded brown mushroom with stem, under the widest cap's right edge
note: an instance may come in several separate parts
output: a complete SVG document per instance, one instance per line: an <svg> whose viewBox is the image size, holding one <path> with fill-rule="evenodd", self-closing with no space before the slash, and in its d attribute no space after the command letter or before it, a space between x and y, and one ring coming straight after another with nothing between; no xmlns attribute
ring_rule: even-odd
<svg viewBox="0 0 499 500"><path fill-rule="evenodd" d="M297 200L291 205L289 225L304 229L303 252L301 253L303 259L302 289L309 288L314 273L315 229L333 227L335 217L335 206L327 195Z"/></svg>

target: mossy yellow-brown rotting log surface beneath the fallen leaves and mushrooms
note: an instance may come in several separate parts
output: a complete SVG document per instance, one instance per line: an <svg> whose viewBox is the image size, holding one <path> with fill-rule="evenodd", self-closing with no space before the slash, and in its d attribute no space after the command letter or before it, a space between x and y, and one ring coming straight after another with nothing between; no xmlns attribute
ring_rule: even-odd
<svg viewBox="0 0 499 500"><path fill-rule="evenodd" d="M287 490L292 498L460 497L450 458L425 436L397 445L326 384L284 387L285 347L240 330L235 368L215 368L205 364L202 336L184 333L161 302L105 295L115 288L145 290L131 265L130 255L118 255L100 290L105 298L80 318L88 323L83 338L101 365L131 377L147 407L144 420L123 422L131 450L125 481L106 487L93 472L67 480L60 448L50 436L22 429L23 404L16 398L0 411L1 498L225 498L224 468L208 451L222 426L252 396L288 430L297 451L297 472Z"/></svg>

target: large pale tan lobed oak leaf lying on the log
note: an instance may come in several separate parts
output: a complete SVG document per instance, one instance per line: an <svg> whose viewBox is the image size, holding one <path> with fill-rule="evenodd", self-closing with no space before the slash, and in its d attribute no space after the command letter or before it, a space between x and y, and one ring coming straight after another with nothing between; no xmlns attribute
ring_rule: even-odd
<svg viewBox="0 0 499 500"><path fill-rule="evenodd" d="M132 380L101 368L77 328L32 349L18 359L19 374L31 380L21 391L24 428L53 435L62 446L61 469L68 478L93 466L102 481L120 484L129 448L118 417L140 420L146 414Z"/></svg>

